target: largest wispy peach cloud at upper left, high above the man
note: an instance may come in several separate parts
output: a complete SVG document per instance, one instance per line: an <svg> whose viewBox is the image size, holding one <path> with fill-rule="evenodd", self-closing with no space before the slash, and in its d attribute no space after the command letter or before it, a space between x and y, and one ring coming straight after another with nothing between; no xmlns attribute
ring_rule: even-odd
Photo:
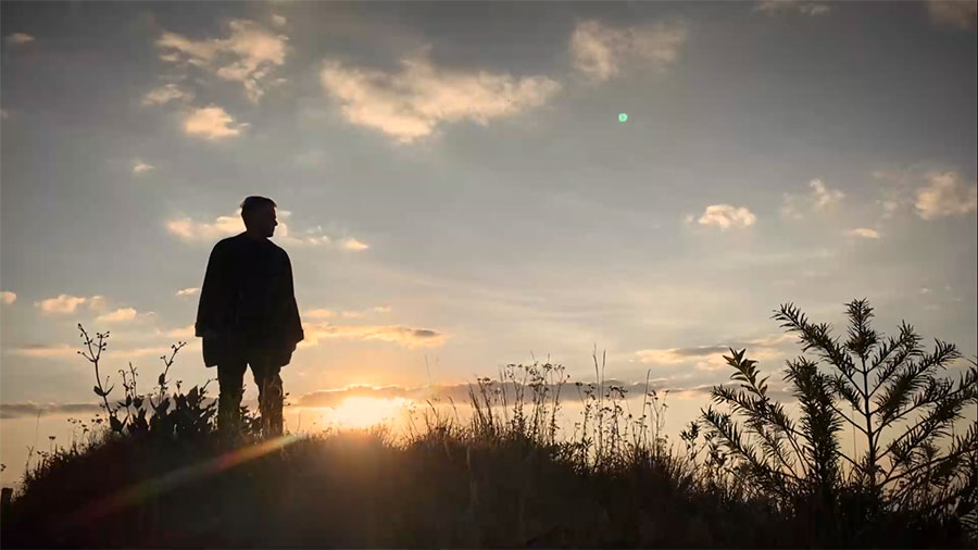
<svg viewBox="0 0 978 550"><path fill-rule="evenodd" d="M233 20L227 27L230 36L222 39L191 40L176 33L163 33L156 40L160 59L239 82L248 99L256 103L269 86L271 74L285 63L289 38L248 20Z"/></svg>

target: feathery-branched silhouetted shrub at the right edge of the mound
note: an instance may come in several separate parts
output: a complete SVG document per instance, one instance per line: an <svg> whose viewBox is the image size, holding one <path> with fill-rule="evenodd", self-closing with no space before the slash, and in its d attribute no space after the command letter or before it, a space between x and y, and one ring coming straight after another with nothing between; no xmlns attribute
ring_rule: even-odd
<svg viewBox="0 0 978 550"><path fill-rule="evenodd" d="M872 328L866 300L847 304L847 316L848 339L840 341L830 325L808 322L791 303L775 312L773 318L799 336L803 352L815 355L787 361L783 380L799 402L797 422L770 399L768 377L758 378L745 350L724 355L739 387L715 386L711 393L740 415L744 427L713 407L702 416L709 436L738 463L730 473L782 505L808 495L831 509L843 492L855 495L851 487L842 490L848 468L863 495L857 500L866 517L882 510L913 510L918 516L952 508L958 517L969 513L978 486L978 427L970 425L964 435L953 429L962 410L978 403L978 363L970 361L957 380L939 376L961 358L953 343L936 339L932 351L925 352L905 322L899 336L885 337ZM861 457L841 450L844 425L863 434ZM890 433L894 436L885 441Z"/></svg>

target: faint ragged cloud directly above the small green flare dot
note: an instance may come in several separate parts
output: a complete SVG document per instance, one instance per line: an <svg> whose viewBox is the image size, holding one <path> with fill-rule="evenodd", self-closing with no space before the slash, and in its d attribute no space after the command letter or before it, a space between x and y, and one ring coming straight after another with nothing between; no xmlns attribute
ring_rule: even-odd
<svg viewBox="0 0 978 550"><path fill-rule="evenodd" d="M589 79L601 83L616 76L630 59L648 61L664 68L675 63L686 42L686 27L655 23L616 29L597 21L577 25L570 36L574 66Z"/></svg>

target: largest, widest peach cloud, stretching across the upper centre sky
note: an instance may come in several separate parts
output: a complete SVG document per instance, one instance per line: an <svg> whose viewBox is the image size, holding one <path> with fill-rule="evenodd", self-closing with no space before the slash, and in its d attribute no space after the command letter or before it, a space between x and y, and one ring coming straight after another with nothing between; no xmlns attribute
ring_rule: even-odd
<svg viewBox="0 0 978 550"><path fill-rule="evenodd" d="M341 104L348 122L379 129L401 143L426 137L441 124L471 120L486 126L542 105L561 89L543 76L439 68L428 61L427 49L401 65L401 72L386 73L327 60L319 83Z"/></svg>

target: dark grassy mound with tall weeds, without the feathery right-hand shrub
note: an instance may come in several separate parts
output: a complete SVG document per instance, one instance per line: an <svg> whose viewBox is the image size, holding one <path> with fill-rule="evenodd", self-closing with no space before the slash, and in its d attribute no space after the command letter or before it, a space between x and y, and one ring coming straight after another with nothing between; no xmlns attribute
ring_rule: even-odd
<svg viewBox="0 0 978 550"><path fill-rule="evenodd" d="M101 335L97 347L103 349ZM175 346L174 355L177 351ZM86 357L98 361L96 353ZM173 357L163 359L168 368ZM479 378L472 386L469 418L431 405L412 420L403 438L371 428L264 440L249 414L234 443L214 433L206 388L168 392L164 374L151 397L141 396L130 368L124 401L113 404L111 389L96 388L114 422L86 425L84 441L54 448L28 468L3 513L0 542L4 548L970 543L950 515L920 518L890 510L869 518L855 489L842 491L829 514L804 493L789 502L772 499L737 475L699 425L684 430L682 448L669 446L662 436L664 393L647 388L641 414L628 414L624 388L606 385L603 358L599 363L595 351L593 360L594 384L572 384L550 363L507 365L498 379ZM568 390L579 392L585 407L574 434L565 437L556 415L562 391Z"/></svg>

